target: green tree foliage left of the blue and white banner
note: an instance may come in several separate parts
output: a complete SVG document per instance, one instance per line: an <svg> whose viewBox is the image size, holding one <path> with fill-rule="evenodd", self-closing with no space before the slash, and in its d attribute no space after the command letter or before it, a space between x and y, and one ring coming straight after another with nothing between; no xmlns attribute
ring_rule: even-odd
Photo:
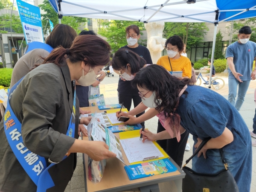
<svg viewBox="0 0 256 192"><path fill-rule="evenodd" d="M10 28L10 20L11 20L11 14L1 14L0 15L0 30L1 33L7 33L7 30L5 28ZM14 30L16 33L23 33L20 16L16 16L12 14L12 30Z"/></svg>

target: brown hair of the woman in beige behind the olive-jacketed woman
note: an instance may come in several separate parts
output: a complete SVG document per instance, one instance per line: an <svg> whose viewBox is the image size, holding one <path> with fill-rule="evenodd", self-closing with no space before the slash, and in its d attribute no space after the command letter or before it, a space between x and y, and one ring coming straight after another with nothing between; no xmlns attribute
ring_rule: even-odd
<svg viewBox="0 0 256 192"><path fill-rule="evenodd" d="M54 26L52 32L45 40L45 43L51 46L53 49L59 46L67 49L70 48L76 36L77 33L72 27L64 24L57 24Z"/></svg>

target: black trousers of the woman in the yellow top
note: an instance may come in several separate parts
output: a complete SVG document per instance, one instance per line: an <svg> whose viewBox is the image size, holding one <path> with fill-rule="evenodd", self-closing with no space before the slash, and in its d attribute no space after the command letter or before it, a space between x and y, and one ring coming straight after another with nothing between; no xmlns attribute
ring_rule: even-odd
<svg viewBox="0 0 256 192"><path fill-rule="evenodd" d="M157 133L165 130L166 129L160 123L160 120L158 120ZM188 138L189 132L185 131L183 134L180 135L180 142L178 142L177 138L175 137L168 140L157 140L157 143L181 168Z"/></svg>

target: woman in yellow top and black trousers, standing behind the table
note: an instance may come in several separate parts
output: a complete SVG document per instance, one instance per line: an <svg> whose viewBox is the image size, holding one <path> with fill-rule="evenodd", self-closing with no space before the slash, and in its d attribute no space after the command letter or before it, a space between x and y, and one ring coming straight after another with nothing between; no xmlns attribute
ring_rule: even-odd
<svg viewBox="0 0 256 192"><path fill-rule="evenodd" d="M168 55L160 57L157 64L163 66L168 71L182 71L182 78L190 79L192 76L191 62L189 58L180 55L184 49L181 38L177 35L170 37L166 41L165 48ZM165 128L158 120L157 133L162 131L165 131ZM157 143L181 167L188 137L189 132L185 131L184 134L180 135L180 142L177 142L175 139L167 139L157 140Z"/></svg>

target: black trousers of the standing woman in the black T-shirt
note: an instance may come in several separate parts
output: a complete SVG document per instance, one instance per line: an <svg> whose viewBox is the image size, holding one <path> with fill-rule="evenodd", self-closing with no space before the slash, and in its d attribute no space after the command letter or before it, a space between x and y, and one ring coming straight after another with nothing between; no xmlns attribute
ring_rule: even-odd
<svg viewBox="0 0 256 192"><path fill-rule="evenodd" d="M127 108L128 111L130 111L130 109L131 109L131 101L132 100L134 102L134 108L136 108L137 105L139 105L141 103L140 96L124 95L122 93L118 93L118 100L119 100L119 104L122 104L122 102L124 102L124 106ZM139 117L144 113L145 113L145 111L137 114L136 117ZM140 123L140 125L144 126L145 122Z"/></svg>

